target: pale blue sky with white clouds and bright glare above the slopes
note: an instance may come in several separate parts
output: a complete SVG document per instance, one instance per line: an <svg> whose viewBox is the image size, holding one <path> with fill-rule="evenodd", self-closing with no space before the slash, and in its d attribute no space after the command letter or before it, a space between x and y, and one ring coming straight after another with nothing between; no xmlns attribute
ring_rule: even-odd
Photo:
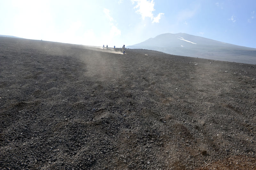
<svg viewBox="0 0 256 170"><path fill-rule="evenodd" d="M164 33L256 48L256 0L0 0L0 35L122 47Z"/></svg>

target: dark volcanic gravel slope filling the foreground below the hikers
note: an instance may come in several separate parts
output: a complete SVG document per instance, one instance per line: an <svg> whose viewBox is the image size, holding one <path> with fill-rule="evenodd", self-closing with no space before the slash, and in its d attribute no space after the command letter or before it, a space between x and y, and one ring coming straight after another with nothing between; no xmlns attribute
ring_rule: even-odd
<svg viewBox="0 0 256 170"><path fill-rule="evenodd" d="M256 169L255 65L111 50L0 37L0 169Z"/></svg>

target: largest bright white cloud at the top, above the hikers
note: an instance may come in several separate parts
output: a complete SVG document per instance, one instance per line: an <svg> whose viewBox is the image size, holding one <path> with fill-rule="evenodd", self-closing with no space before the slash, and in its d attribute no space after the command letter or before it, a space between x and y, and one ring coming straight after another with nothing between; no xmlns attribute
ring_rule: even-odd
<svg viewBox="0 0 256 170"><path fill-rule="evenodd" d="M159 13L156 17L153 15L154 9L154 0L132 0L132 4L137 2L137 5L134 9L137 9L136 13L141 15L141 18L144 20L146 17L149 17L152 20L152 23L159 23L159 19L161 19L161 15L164 13Z"/></svg>

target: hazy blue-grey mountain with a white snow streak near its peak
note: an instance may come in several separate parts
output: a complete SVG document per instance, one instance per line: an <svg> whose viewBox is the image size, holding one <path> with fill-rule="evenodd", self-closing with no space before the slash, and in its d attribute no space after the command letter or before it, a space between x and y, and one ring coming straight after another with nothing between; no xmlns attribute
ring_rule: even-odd
<svg viewBox="0 0 256 170"><path fill-rule="evenodd" d="M157 35L155 38L149 38L142 43L127 46L127 48L157 50L179 56L256 64L255 48L185 33Z"/></svg>

